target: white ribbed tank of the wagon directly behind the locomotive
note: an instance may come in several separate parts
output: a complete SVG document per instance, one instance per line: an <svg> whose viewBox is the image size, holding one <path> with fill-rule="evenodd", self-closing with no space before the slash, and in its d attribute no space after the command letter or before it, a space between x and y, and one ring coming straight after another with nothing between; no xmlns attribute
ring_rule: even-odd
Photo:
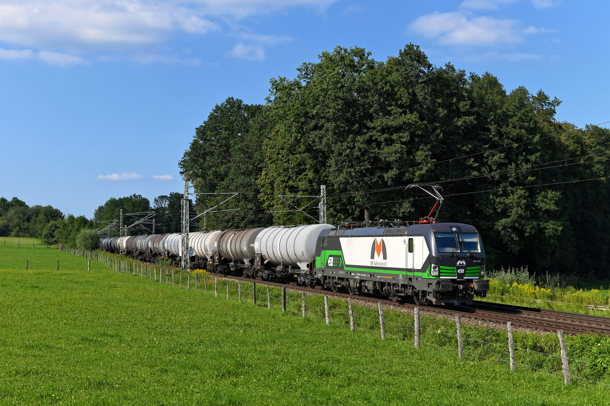
<svg viewBox="0 0 610 406"><path fill-rule="evenodd" d="M256 237L254 251L272 264L307 270L315 256L318 236L331 228L334 226L330 224L265 228Z"/></svg>

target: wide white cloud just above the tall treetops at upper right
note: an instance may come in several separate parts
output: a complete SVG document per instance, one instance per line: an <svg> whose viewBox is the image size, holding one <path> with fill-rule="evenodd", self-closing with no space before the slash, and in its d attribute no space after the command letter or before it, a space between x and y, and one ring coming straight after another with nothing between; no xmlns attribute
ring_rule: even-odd
<svg viewBox="0 0 610 406"><path fill-rule="evenodd" d="M523 41L519 21L488 16L469 18L463 12L423 15L409 27L446 45L513 44Z"/></svg>

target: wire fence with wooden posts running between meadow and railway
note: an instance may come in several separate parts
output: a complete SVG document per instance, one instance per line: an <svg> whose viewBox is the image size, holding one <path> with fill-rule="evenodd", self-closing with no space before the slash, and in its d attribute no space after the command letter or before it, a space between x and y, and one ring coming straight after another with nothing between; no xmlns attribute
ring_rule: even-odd
<svg viewBox="0 0 610 406"><path fill-rule="evenodd" d="M325 320L326 324L340 328L350 328L354 332L378 334L381 340L397 340L412 343L415 348L429 346L457 352L459 359L485 359L506 363L511 371L517 367L544 371L564 377L565 383L588 382L610 387L610 349L601 348L601 343L591 342L590 351L594 358L589 360L569 357L569 349L563 331L553 334L531 334L512 332L511 323L506 330L492 327L462 325L461 318L455 323L446 318L420 315L418 307L414 312L400 311L384 307L381 302L374 306L351 298L329 298L318 294L306 294L293 287L276 287L265 282L241 281L218 278L207 274L173 267L154 267L138 261L119 261L99 251L81 251L62 247L62 250L101 262L110 270L149 279L153 283L172 285L180 289L215 295L248 302L268 309L281 309L295 317ZM90 270L90 262L88 269ZM354 303L357 302L357 303ZM374 306L374 307L373 307ZM610 343L610 340L605 341ZM600 348L598 348L598 346ZM576 347L576 344L574 345ZM583 354L578 348L578 354ZM598 351L599 350L599 351ZM576 351L576 348L573 348ZM597 351L597 358L595 353ZM508 359L507 359L508 357Z"/></svg>

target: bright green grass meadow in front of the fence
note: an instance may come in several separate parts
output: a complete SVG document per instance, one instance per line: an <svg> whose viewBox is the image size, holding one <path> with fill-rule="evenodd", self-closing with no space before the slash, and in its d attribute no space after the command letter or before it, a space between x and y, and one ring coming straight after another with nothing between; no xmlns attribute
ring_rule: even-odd
<svg viewBox="0 0 610 406"><path fill-rule="evenodd" d="M7 239L0 404L610 404L603 385L511 373L504 363L416 350L409 340L381 341L199 288L155 284L93 261L88 272L82 257Z"/></svg>

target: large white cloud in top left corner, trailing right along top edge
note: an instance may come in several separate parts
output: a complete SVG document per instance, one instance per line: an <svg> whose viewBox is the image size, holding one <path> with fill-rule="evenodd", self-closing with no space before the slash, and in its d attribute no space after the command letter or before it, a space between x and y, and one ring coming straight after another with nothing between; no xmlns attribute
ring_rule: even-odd
<svg viewBox="0 0 610 406"><path fill-rule="evenodd" d="M63 51L142 47L173 32L203 35L212 18L241 19L294 7L325 10L337 0L3 0L0 41Z"/></svg>

